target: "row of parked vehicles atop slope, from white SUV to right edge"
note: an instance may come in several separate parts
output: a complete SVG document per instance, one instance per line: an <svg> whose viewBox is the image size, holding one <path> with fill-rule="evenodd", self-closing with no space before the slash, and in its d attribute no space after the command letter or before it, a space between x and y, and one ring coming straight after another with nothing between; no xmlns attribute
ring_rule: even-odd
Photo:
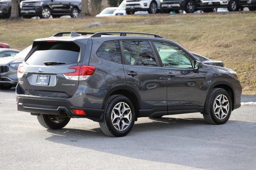
<svg viewBox="0 0 256 170"><path fill-rule="evenodd" d="M228 11L243 10L248 7L250 11L256 10L255 0L126 0L126 13L134 14L136 11L148 11L155 14L159 11L169 13L185 10L193 13L196 10L214 12L218 8L228 8Z"/></svg>

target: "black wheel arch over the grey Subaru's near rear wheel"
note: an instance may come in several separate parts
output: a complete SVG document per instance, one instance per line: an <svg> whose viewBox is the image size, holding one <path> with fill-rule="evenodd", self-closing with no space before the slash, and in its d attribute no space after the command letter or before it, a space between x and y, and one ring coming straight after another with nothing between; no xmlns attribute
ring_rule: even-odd
<svg viewBox="0 0 256 170"><path fill-rule="evenodd" d="M141 101L140 95L133 88L129 88L126 86L117 86L109 90L104 98L102 109L105 108L108 98L114 94L120 94L129 98L132 104L134 104L135 115L136 117L138 117L139 109L140 109L140 101Z"/></svg>

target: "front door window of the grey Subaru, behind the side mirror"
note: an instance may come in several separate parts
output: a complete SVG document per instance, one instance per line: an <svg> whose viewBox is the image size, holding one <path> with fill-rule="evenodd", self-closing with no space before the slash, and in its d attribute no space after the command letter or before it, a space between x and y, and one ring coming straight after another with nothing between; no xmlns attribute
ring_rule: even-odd
<svg viewBox="0 0 256 170"><path fill-rule="evenodd" d="M190 57L179 47L168 43L154 42L165 67L192 68Z"/></svg>

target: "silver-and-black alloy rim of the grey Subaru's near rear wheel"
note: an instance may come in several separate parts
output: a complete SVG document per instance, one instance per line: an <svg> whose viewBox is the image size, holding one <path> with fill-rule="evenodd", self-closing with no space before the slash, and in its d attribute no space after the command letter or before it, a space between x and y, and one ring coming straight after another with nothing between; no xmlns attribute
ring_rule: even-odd
<svg viewBox="0 0 256 170"><path fill-rule="evenodd" d="M132 121L132 111L128 104L119 102L114 106L111 113L111 121L118 131L127 129Z"/></svg>

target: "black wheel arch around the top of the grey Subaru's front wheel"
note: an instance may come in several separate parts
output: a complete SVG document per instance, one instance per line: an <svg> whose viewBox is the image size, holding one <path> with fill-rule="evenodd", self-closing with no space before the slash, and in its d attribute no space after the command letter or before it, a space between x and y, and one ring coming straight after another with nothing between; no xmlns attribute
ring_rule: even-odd
<svg viewBox="0 0 256 170"><path fill-rule="evenodd" d="M234 110L234 100L235 100L235 94L234 94L234 88L232 87L232 85L228 82L216 82L214 84L212 84L212 86L210 86L209 90L208 90L208 94L207 94L207 99L210 96L210 92L212 92L212 89L214 88L223 88L224 90L226 90L228 92L228 94L230 95L230 98L232 100L232 111Z"/></svg>

